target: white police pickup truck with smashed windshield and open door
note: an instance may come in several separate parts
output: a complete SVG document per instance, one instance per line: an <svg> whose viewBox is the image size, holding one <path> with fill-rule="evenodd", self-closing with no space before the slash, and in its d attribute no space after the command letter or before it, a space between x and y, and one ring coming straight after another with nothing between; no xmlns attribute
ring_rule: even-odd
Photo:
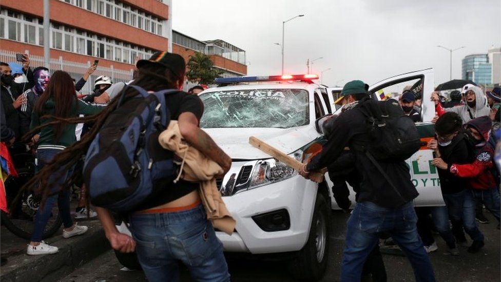
<svg viewBox="0 0 501 282"><path fill-rule="evenodd" d="M205 106L200 126L233 159L218 182L237 220L233 235L217 232L225 251L287 253L292 273L307 280L320 279L326 268L329 229L335 228L327 223L330 209L337 209L332 182L327 175L320 184L302 178L249 145L248 139L255 136L299 161L307 159L322 140L318 121L336 111L334 101L341 90L313 83L317 78L311 74L225 78L217 81L220 86L199 94ZM378 82L370 92L417 84L423 93L431 93L433 80L433 70L425 69ZM435 110L429 99L422 101L423 121L417 127L424 144L434 134L430 121ZM408 160L420 194L416 206L443 204L431 159L431 151L423 147ZM353 203L354 196L352 191Z"/></svg>

